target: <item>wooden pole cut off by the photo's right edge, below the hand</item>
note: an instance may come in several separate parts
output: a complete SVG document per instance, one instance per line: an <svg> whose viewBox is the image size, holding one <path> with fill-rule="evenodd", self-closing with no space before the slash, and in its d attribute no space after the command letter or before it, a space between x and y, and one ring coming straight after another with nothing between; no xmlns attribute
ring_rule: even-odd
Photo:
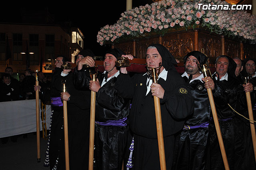
<svg viewBox="0 0 256 170"><path fill-rule="evenodd" d="M254 151L254 158L256 161L256 135L255 135L253 114L252 114L252 102L251 102L250 92L246 92L246 100L247 100L248 114L249 114L249 119L250 119L250 128L251 128L251 134L252 134L252 145L253 145L253 151Z"/></svg>

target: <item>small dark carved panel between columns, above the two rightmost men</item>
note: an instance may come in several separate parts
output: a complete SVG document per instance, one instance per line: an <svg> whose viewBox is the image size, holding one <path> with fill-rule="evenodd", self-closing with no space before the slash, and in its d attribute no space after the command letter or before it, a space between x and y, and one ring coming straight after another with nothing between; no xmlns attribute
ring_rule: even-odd
<svg viewBox="0 0 256 170"><path fill-rule="evenodd" d="M240 42L225 38L225 55L231 58L240 58Z"/></svg>

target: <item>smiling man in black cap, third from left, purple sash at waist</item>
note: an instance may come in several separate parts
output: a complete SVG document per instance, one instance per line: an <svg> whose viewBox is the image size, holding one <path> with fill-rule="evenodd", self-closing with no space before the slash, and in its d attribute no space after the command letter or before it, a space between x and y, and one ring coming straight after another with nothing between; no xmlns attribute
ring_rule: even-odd
<svg viewBox="0 0 256 170"><path fill-rule="evenodd" d="M118 95L114 88L119 70L115 66L117 58L122 56L118 48L106 52L104 73L98 73L97 81L92 81L89 69L84 64L94 66L91 56L86 56L74 70L74 85L78 89L90 88L96 92L94 160L96 170L121 170L128 136L127 116L130 101ZM91 69L92 70L92 69Z"/></svg>

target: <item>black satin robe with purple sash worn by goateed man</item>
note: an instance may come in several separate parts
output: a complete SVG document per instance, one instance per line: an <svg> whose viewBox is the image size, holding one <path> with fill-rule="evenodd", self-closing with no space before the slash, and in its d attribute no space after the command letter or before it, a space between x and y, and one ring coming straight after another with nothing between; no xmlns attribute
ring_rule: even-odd
<svg viewBox="0 0 256 170"><path fill-rule="evenodd" d="M186 76L183 78L188 81ZM208 137L211 108L208 92L200 80L187 82L187 86L194 98L194 113L188 117L183 130L176 136L173 169L210 170Z"/></svg>

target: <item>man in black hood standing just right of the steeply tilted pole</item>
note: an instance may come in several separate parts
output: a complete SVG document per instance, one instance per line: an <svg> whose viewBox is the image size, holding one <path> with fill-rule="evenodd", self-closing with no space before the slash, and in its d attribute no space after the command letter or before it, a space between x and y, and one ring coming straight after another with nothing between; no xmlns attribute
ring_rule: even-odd
<svg viewBox="0 0 256 170"><path fill-rule="evenodd" d="M241 107L247 107L245 92L251 90L249 84L242 86L236 79L236 66L232 58L219 56L215 64L216 72L213 74L215 84L220 87L218 92L214 93L217 99L214 102L230 169L245 167L244 124L239 122L236 112L239 113ZM211 169L224 170L216 129L213 119L211 120Z"/></svg>

